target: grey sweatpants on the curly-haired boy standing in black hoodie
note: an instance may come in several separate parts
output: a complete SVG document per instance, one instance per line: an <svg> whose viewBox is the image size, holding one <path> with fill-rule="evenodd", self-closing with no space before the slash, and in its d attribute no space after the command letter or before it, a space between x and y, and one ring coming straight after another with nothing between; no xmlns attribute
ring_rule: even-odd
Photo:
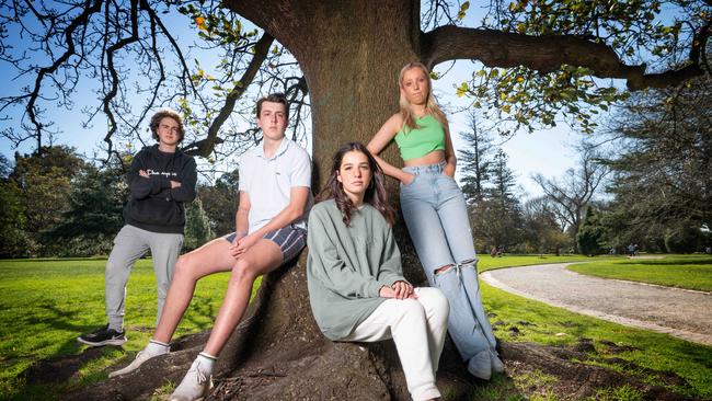
<svg viewBox="0 0 712 401"><path fill-rule="evenodd" d="M104 290L110 328L122 330L128 275L134 263L149 249L153 257L153 272L156 272L156 286L158 287L158 313L156 316L156 324L158 324L181 248L183 248L183 234L180 233L151 232L129 225L118 231L114 239L114 249L106 262Z"/></svg>

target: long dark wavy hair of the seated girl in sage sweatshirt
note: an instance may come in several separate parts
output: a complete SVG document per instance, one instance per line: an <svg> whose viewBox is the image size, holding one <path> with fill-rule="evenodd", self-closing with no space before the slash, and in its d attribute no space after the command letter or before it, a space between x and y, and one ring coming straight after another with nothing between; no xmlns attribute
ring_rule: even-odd
<svg viewBox="0 0 712 401"><path fill-rule="evenodd" d="M364 203L370 204L380 211L388 221L389 225L393 226L395 222L395 213L393 208L388 204L388 195L386 195L386 188L383 187L383 182L386 177L381 168L374 159L371 152L366 149L364 144L360 142L348 142L342 146L334 157L332 158L331 175L329 176L329 182L326 187L321 193L320 199L334 199L336 202L336 207L341 210L343 215L343 220L346 226L351 224L351 216L356 206L351 200L348 195L344 192L344 187L338 180L336 180L336 173L341 169L341 163L344 160L344 154L357 151L366 154L368 159L368 167L371 169L371 181L366 188L366 194L364 195Z"/></svg>

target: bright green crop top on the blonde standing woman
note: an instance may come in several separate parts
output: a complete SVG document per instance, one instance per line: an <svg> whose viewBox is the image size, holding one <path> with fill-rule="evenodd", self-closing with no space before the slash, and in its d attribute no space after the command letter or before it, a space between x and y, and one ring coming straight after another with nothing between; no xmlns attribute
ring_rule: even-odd
<svg viewBox="0 0 712 401"><path fill-rule="evenodd" d="M406 127L395 134L395 144L401 150L403 160L421 158L434 150L445 150L445 129L432 114L422 118L415 118L415 124L421 128L410 129Z"/></svg>

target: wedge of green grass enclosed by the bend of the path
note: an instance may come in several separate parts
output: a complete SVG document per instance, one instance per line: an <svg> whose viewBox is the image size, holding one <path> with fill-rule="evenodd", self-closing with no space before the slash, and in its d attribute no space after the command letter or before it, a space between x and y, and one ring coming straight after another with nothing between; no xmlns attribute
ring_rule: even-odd
<svg viewBox="0 0 712 401"><path fill-rule="evenodd" d="M712 291L712 256L708 255L596 261L594 263L575 264L569 266L569 270L604 278L628 279Z"/></svg>

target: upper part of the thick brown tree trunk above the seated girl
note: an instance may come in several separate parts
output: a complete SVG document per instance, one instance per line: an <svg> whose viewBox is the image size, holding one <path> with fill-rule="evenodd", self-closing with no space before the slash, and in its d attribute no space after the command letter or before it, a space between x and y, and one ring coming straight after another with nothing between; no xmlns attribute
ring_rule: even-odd
<svg viewBox="0 0 712 401"><path fill-rule="evenodd" d="M333 152L368 142L398 111L398 73L418 60L418 2L227 1L297 58L309 87L313 158L323 184ZM387 160L400 162L393 147Z"/></svg>

